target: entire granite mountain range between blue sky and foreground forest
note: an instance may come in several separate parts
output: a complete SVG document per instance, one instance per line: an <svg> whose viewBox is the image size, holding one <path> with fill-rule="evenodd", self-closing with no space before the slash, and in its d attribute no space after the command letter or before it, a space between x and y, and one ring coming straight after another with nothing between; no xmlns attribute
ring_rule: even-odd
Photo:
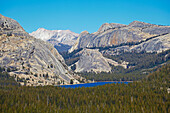
<svg viewBox="0 0 170 113"><path fill-rule="evenodd" d="M44 28L27 33L0 15L0 66L21 85L90 82L83 73L94 77L105 72L107 80L131 72L141 77L153 66L169 63L169 49L170 26L133 21L105 23L91 34Z"/></svg>

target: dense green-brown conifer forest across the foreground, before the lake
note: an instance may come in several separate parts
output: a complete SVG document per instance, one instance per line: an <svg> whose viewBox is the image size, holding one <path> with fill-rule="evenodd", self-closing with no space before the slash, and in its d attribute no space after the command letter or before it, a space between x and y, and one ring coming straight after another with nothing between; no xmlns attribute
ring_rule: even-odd
<svg viewBox="0 0 170 113"><path fill-rule="evenodd" d="M0 112L169 113L170 65L129 84L89 88L26 87L0 73Z"/></svg>

